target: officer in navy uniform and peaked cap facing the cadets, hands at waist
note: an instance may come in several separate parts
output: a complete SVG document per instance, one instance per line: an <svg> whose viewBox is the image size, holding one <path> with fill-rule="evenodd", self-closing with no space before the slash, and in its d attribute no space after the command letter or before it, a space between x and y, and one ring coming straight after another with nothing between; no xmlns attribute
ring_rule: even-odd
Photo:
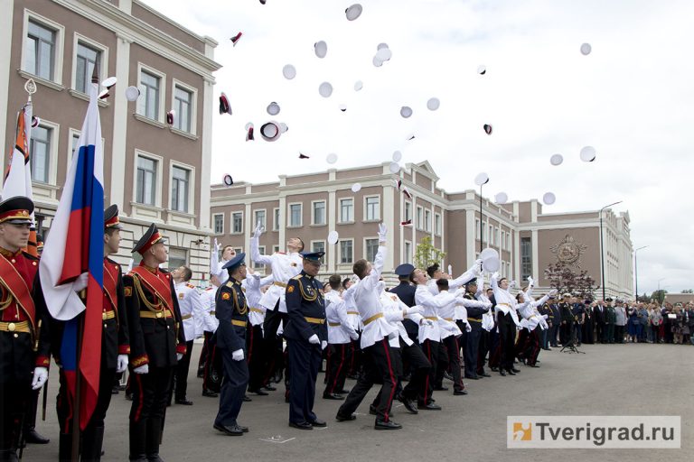
<svg viewBox="0 0 694 462"><path fill-rule="evenodd" d="M292 380L289 426L300 430L325 427L314 414L315 379L328 345L323 285L315 280L324 252L302 252L304 270L286 284L285 338Z"/></svg>

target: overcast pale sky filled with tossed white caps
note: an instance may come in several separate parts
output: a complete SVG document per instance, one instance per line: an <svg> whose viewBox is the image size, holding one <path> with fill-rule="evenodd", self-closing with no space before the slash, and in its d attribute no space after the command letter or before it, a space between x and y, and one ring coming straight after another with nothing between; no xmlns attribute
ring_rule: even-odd
<svg viewBox="0 0 694 462"><path fill-rule="evenodd" d="M485 196L551 191L557 201L548 213L624 200L614 209L629 211L634 248L649 245L639 252L639 291L660 279L671 292L694 288L694 2L366 0L353 22L344 14L349 1L145 3L220 42L213 183L224 173L261 182L324 171L331 152L334 167L348 168L399 150L403 164L429 161L447 191L474 188L485 171ZM323 60L318 41L327 43ZM381 42L392 58L376 68ZM283 77L286 64L295 79ZM324 81L332 97L318 94ZM233 115L216 113L221 91ZM438 110L427 109L430 97ZM267 115L271 101L277 116ZM413 115L402 118L400 106ZM245 141L248 122L258 132L273 119L289 131L274 143L258 134ZM586 145L596 148L595 162L580 161ZM298 152L311 158L300 161ZM554 153L564 156L558 167L549 163Z"/></svg>

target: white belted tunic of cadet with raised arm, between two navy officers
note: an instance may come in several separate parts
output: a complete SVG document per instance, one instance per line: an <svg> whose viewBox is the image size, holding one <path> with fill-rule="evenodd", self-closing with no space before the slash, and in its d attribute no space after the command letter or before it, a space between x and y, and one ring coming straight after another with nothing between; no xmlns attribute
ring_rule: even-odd
<svg viewBox="0 0 694 462"><path fill-rule="evenodd" d="M272 271L273 284L260 298L258 303L266 310L275 310L279 300L279 312L286 313L285 291L286 282L304 269L303 258L298 253L284 254L276 252L271 255L261 255L258 250L258 237L250 238L250 258L258 264L268 264Z"/></svg>

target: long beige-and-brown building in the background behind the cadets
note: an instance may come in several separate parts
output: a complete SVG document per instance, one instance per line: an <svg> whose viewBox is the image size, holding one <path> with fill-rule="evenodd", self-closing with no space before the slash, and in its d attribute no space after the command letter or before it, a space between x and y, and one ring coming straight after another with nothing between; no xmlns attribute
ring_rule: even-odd
<svg viewBox="0 0 694 462"><path fill-rule="evenodd" d="M396 175L385 162L281 175L273 183L212 185L211 228L220 244L248 252L253 228L260 222L266 228L260 238L261 253L284 251L286 240L299 236L307 248L326 252L322 272L347 275L356 260L373 260L377 225L384 222L389 227L384 272L390 281L395 280L393 269L413 263L417 244L429 236L446 253L444 268L451 265L455 274L463 273L483 248L493 247L500 254L503 276L521 282L531 275L539 279L539 290L549 289L544 270L557 261L577 271L585 269L600 285L598 211L543 214L536 199L498 205L486 198L481 201L474 190L446 192L436 186L437 181L428 162L408 163ZM410 220L411 225L401 225ZM331 231L339 234L335 245L327 242ZM603 233L605 294L632 298L628 213L605 210ZM601 289L596 291L596 296L601 294Z"/></svg>

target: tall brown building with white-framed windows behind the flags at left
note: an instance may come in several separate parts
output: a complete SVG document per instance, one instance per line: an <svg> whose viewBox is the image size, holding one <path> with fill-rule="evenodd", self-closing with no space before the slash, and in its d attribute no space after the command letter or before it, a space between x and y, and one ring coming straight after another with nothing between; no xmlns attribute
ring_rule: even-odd
<svg viewBox="0 0 694 462"><path fill-rule="evenodd" d="M202 278L209 268L217 42L137 0L2 5L0 139L14 145L16 114L27 99L24 82L33 79L33 115L41 120L30 146L39 231L50 233L97 66L101 80L117 77L110 97L99 102L105 205L117 204L125 226L117 260L127 264L133 243L156 223L169 241L170 266L187 264ZM128 86L139 88L136 102L127 101Z"/></svg>

